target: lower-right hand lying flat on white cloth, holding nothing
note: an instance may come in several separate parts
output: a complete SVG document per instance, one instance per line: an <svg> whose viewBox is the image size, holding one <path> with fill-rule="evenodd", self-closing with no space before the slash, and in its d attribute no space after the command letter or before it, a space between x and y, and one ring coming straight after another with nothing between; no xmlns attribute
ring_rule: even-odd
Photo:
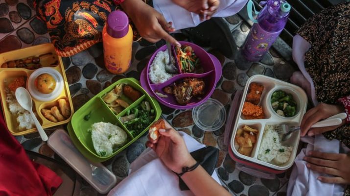
<svg viewBox="0 0 350 196"><path fill-rule="evenodd" d="M334 175L319 176L317 179L326 183L350 184L350 156L347 154L311 151L304 157L307 167L313 171Z"/></svg>

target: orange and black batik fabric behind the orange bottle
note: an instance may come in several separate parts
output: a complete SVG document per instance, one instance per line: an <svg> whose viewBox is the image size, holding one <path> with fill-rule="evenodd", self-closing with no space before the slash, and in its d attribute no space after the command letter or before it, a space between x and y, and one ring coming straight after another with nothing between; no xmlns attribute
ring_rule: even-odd
<svg viewBox="0 0 350 196"><path fill-rule="evenodd" d="M101 42L108 14L121 10L112 0L36 0L34 6L60 56L74 55ZM137 30L130 25L134 40L138 40Z"/></svg>

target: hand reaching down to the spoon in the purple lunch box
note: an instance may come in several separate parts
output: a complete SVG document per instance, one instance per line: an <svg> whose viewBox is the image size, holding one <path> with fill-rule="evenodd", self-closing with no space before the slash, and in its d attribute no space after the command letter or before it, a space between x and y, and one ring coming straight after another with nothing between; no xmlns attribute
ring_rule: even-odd
<svg viewBox="0 0 350 196"><path fill-rule="evenodd" d="M181 46L168 33L175 31L171 26L172 23L167 23L163 15L153 7L147 5L142 0L125 0L121 6L136 25L142 38L152 43L164 39L173 45Z"/></svg>

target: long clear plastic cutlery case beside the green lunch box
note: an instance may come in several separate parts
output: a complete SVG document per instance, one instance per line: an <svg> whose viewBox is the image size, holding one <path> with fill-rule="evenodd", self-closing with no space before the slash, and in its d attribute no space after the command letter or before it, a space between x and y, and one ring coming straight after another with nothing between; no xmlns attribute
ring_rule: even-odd
<svg viewBox="0 0 350 196"><path fill-rule="evenodd" d="M48 138L51 147L75 172L79 173L98 193L108 193L117 183L116 176L101 163L91 163L70 140L63 129L57 129Z"/></svg>

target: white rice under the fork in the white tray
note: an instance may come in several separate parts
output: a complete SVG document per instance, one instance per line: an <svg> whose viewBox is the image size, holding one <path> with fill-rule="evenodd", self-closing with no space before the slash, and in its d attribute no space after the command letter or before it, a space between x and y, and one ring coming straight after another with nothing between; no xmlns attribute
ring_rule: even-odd
<svg viewBox="0 0 350 196"><path fill-rule="evenodd" d="M257 159L281 165L289 161L292 150L292 147L282 146L279 134L275 131L275 126L267 125L262 135Z"/></svg>

